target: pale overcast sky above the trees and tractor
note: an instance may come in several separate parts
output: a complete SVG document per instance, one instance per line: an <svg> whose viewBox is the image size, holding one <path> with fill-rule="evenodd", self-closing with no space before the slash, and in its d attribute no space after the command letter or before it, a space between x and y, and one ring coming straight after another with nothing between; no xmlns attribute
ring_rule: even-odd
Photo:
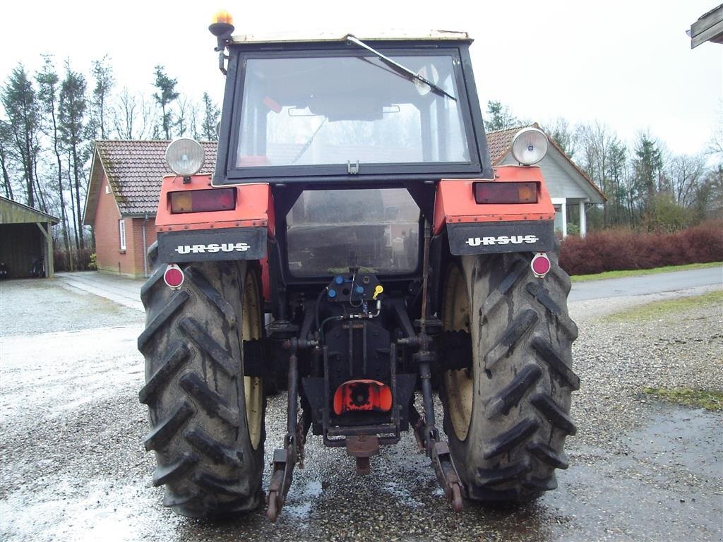
<svg viewBox="0 0 723 542"><path fill-rule="evenodd" d="M723 118L723 46L690 50L685 30L719 0L155 1L5 2L0 9L0 77L18 62L38 69L53 53L90 72L111 57L116 85L153 92L163 64L178 89L221 102L215 38L208 24L228 9L236 33L294 27L466 30L482 100L544 124L601 121L632 142L647 131L672 152L696 153ZM474 8L472 7L474 6Z"/></svg>

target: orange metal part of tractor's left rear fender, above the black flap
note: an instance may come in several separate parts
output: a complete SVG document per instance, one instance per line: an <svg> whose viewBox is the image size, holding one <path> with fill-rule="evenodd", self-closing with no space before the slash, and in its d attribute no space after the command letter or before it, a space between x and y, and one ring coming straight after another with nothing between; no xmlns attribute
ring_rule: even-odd
<svg viewBox="0 0 723 542"><path fill-rule="evenodd" d="M249 228L265 226L268 235L275 234L273 198L268 184L244 184L215 188L208 175L194 175L184 182L181 176L166 176L161 184L161 199L155 215L155 231L193 231L222 228ZM236 201L228 210L189 212L189 205L181 207L186 199L184 192L199 190L234 190ZM232 199L231 199L232 200ZM171 203L175 202L177 212ZM184 209L179 212L179 209Z"/></svg>

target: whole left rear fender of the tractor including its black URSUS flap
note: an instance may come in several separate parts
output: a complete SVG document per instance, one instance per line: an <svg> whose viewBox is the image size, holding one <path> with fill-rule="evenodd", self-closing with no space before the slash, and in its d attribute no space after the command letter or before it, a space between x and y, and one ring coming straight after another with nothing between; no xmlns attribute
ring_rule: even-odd
<svg viewBox="0 0 723 542"><path fill-rule="evenodd" d="M214 197L202 191L223 194ZM179 204L179 193L187 196ZM174 195L175 194L175 195ZM200 197L199 197L200 196ZM176 200L176 209L171 205ZM225 206L226 210L208 210ZM183 211L180 212L179 209ZM265 259L267 240L275 236L270 186L211 186L208 175L166 176L155 217L158 259L163 263Z"/></svg>

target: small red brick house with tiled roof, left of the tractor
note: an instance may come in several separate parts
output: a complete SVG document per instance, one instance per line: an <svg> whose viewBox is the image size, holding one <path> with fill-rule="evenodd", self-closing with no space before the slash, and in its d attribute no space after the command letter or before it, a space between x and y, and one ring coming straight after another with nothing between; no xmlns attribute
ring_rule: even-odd
<svg viewBox="0 0 723 542"><path fill-rule="evenodd" d="M202 145L201 173L212 173L216 143ZM146 250L155 241L161 179L173 175L166 147L168 141L95 142L83 224L93 226L99 271L132 278L150 274Z"/></svg>

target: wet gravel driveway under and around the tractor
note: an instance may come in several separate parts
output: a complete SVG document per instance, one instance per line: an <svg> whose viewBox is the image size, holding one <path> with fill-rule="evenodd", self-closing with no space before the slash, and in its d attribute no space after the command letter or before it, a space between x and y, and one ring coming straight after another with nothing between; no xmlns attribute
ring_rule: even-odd
<svg viewBox="0 0 723 542"><path fill-rule="evenodd" d="M312 438L276 524L262 512L211 523L168 512L150 484L137 400L142 314L58 282L0 283L0 539L719 541L723 415L641 389L723 389L721 307L635 325L601 318L660 297L570 305L581 328L578 434L559 488L533 504L468 504L455 515L411 434L372 458L366 477ZM270 399L267 455L281 442L284 410L284 397Z"/></svg>

